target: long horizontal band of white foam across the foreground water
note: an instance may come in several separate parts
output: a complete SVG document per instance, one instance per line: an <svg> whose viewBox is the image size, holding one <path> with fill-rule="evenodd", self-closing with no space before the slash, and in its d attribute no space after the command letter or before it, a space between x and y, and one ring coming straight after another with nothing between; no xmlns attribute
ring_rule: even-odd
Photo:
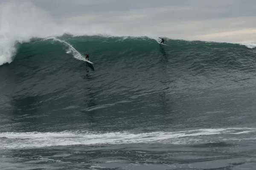
<svg viewBox="0 0 256 170"><path fill-rule="evenodd" d="M256 128L220 128L198 129L180 132L151 132L151 133L93 133L86 131L63 132L25 132L0 133L0 148L33 148L68 145L97 145L97 144L129 144L129 143L162 143L162 144L191 144L206 142L206 136L232 134L236 138L242 133L254 133ZM215 138L215 137L213 137ZM212 138L211 138L212 140ZM219 140L219 139L218 139ZM239 139L241 140L241 138Z"/></svg>

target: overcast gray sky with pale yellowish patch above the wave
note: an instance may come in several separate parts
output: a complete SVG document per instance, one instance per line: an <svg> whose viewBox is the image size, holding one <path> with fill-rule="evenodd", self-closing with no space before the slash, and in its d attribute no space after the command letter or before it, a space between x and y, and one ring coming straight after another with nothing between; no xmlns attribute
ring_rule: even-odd
<svg viewBox="0 0 256 170"><path fill-rule="evenodd" d="M52 31L117 36L254 42L255 0L20 0L45 15ZM10 2L0 0L0 3ZM4 7L7 8L7 7ZM15 9L13 9L15 10ZM31 12L23 7L20 15ZM18 12L16 12L19 14ZM40 22L42 16L38 16ZM48 18L48 19L46 19ZM53 26L54 25L54 26ZM58 27L58 28L57 28ZM51 31L50 28L47 32Z"/></svg>

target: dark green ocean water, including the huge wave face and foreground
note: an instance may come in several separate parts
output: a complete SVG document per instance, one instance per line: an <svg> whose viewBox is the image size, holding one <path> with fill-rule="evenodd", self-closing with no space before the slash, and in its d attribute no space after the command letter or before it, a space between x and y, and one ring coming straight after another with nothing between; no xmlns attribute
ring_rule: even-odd
<svg viewBox="0 0 256 170"><path fill-rule="evenodd" d="M2 52L0 170L254 170L255 45L166 44L63 35Z"/></svg>

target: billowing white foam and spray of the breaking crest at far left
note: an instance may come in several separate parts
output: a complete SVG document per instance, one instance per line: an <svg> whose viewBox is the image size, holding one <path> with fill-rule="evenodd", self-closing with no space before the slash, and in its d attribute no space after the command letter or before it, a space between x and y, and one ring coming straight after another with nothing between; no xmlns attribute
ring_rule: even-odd
<svg viewBox="0 0 256 170"><path fill-rule="evenodd" d="M32 3L0 3L0 14L0 65L12 62L17 42L27 42L32 37L56 36L60 31L47 13Z"/></svg>

